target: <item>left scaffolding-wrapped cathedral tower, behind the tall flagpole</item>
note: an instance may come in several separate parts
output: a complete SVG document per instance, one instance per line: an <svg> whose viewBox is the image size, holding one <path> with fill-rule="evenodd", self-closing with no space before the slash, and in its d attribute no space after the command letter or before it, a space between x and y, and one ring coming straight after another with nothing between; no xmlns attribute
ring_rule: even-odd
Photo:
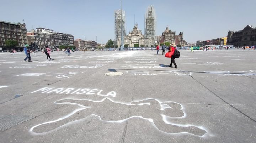
<svg viewBox="0 0 256 143"><path fill-rule="evenodd" d="M121 24L123 24L123 38L126 35L126 17L125 17L125 11L122 11L123 17L121 18L121 10L115 10L114 11L114 17L115 17L115 40L114 45L118 45L118 48L121 46ZM121 20L122 19L122 20ZM122 21L122 22L121 22Z"/></svg>

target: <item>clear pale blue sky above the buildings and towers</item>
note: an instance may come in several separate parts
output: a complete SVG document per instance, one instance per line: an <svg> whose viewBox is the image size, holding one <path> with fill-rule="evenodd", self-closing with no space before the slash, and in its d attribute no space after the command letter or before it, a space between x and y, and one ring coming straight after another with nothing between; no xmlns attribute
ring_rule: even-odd
<svg viewBox="0 0 256 143"><path fill-rule="evenodd" d="M106 43L114 39L114 10L120 0L0 0L0 20L68 33L74 39ZM144 34L148 6L156 11L156 35L168 26L188 43L227 36L228 31L256 27L256 0L122 0L126 34L138 23ZM96 39L97 37L97 39Z"/></svg>

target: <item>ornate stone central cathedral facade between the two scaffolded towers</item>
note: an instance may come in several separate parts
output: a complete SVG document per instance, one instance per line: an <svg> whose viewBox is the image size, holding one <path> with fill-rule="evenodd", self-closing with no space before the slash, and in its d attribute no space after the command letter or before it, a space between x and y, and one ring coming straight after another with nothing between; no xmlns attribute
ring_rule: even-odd
<svg viewBox="0 0 256 143"><path fill-rule="evenodd" d="M133 27L133 30L124 38L124 44L127 44L128 47L134 47L134 44L139 44L146 46L145 36L142 34L142 31L139 30L138 24Z"/></svg>

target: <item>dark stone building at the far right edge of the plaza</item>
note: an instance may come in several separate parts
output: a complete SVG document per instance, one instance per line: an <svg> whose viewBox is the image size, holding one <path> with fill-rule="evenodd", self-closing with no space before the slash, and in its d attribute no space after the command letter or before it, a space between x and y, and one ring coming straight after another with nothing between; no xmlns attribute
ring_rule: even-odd
<svg viewBox="0 0 256 143"><path fill-rule="evenodd" d="M251 46L256 45L256 28L247 25L240 31L229 31L227 45Z"/></svg>

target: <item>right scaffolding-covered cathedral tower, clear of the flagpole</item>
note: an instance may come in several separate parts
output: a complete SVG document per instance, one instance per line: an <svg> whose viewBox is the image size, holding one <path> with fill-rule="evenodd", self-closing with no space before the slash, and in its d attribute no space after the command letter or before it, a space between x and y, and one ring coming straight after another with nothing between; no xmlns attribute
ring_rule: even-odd
<svg viewBox="0 0 256 143"><path fill-rule="evenodd" d="M153 5L148 6L145 13L145 41L150 47L156 41L156 14Z"/></svg>

